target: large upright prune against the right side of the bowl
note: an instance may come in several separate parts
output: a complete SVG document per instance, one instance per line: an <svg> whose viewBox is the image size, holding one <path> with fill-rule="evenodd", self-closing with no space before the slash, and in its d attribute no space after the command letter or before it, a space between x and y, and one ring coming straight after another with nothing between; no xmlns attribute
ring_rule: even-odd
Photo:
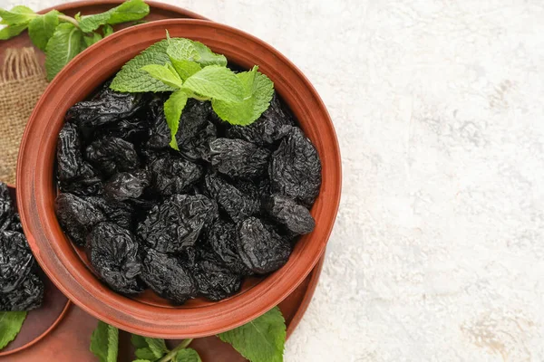
<svg viewBox="0 0 544 362"><path fill-rule="evenodd" d="M309 207L321 186L321 161L301 129L294 127L272 154L268 167L274 194L286 195Z"/></svg>

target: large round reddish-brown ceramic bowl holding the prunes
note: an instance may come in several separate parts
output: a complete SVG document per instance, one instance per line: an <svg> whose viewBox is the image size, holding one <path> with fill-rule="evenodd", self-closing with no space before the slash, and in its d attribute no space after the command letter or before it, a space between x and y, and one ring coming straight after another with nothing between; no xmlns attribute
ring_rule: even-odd
<svg viewBox="0 0 544 362"><path fill-rule="evenodd" d="M228 300L190 300L173 307L154 295L131 299L99 281L64 235L54 214L54 159L63 117L136 54L165 37L187 37L223 53L230 62L254 64L274 81L277 92L316 145L323 184L311 212L316 229L302 237L280 270L244 283ZM45 90L24 132L17 167L17 199L24 231L44 271L78 306L120 329L159 338L197 338L233 329L285 299L321 257L340 201L341 163L335 129L316 90L285 56L248 33L200 20L164 20L114 33L78 55Z"/></svg>

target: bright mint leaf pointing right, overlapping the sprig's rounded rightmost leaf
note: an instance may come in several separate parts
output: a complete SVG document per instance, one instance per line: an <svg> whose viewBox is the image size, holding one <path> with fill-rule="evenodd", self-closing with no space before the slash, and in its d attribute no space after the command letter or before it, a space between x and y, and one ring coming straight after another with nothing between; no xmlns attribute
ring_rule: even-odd
<svg viewBox="0 0 544 362"><path fill-rule="evenodd" d="M183 88L214 100L240 102L244 90L236 74L228 68L210 65L191 75Z"/></svg>

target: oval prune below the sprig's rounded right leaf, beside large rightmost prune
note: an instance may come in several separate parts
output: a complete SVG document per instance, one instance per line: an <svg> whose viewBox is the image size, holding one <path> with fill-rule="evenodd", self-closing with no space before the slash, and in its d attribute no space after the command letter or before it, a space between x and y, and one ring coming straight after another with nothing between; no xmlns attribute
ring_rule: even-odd
<svg viewBox="0 0 544 362"><path fill-rule="evenodd" d="M242 139L218 138L209 143L211 165L234 178L258 178L267 170L269 152Z"/></svg>

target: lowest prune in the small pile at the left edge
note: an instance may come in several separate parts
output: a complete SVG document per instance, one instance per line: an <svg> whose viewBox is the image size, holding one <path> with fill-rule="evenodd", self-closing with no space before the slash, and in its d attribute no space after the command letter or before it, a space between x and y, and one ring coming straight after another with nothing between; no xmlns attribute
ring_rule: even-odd
<svg viewBox="0 0 544 362"><path fill-rule="evenodd" d="M0 311L28 311L42 306L44 282L34 274L29 274L16 290L0 292Z"/></svg>

